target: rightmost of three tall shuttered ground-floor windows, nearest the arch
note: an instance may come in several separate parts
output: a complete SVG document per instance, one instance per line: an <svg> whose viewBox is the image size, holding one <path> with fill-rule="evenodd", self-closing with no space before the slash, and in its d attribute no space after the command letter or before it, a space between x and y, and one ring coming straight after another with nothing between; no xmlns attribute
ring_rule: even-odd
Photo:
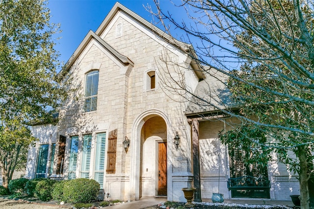
<svg viewBox="0 0 314 209"><path fill-rule="evenodd" d="M100 184L101 189L103 189L103 185L104 185L105 145L106 145L106 134L105 133L97 134L95 180Z"/></svg>

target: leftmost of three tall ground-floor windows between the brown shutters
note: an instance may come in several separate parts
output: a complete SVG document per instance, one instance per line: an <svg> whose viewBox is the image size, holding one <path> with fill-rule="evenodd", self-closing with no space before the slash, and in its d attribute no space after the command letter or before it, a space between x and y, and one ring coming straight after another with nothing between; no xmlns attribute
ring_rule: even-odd
<svg viewBox="0 0 314 209"><path fill-rule="evenodd" d="M68 179L76 178L78 162L78 136L71 137L70 163Z"/></svg>

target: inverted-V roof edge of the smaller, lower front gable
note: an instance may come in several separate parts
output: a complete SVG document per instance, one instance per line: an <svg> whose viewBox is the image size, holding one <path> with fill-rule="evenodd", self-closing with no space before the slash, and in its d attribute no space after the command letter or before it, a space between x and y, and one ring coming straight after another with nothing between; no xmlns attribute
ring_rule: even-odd
<svg viewBox="0 0 314 209"><path fill-rule="evenodd" d="M81 52L84 50L84 48L88 45L88 43L92 40L96 40L101 46L103 46L109 53L111 53L121 64L124 66L131 65L134 66L134 63L127 57L122 54L120 54L118 51L116 51L113 47L108 45L102 38L100 38L96 33L93 31L89 31L83 41L80 43L78 48L75 50L73 55L70 57L69 61L66 63L65 68L62 69L57 77L59 80L62 80L63 77L66 75L66 73L70 70L71 66L74 64L74 62L78 59L78 56L81 54Z"/></svg>

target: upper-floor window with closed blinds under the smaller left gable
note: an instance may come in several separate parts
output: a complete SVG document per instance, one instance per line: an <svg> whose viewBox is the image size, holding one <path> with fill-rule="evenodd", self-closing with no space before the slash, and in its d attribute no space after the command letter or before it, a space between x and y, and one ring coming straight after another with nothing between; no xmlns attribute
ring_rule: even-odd
<svg viewBox="0 0 314 209"><path fill-rule="evenodd" d="M86 75L85 112L97 110L99 70L93 70Z"/></svg>

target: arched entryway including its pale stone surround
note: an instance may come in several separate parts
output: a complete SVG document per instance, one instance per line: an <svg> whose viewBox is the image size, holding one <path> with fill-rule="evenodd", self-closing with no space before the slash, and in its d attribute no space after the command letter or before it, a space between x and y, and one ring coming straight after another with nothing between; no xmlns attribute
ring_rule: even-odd
<svg viewBox="0 0 314 209"><path fill-rule="evenodd" d="M131 200L171 194L172 164L169 153L173 136L168 131L170 128L168 116L160 110L146 111L135 119L130 145Z"/></svg>

